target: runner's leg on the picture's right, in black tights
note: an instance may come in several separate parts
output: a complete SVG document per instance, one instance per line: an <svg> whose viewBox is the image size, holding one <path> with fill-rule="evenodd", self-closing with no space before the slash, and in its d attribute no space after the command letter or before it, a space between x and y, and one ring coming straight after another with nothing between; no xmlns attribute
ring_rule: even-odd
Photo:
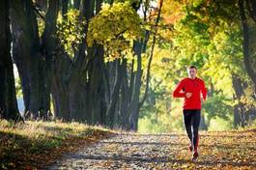
<svg viewBox="0 0 256 170"><path fill-rule="evenodd" d="M194 110L192 115L193 115L193 122L192 122L193 147L194 147L194 153L197 153L198 142L199 142L198 128L199 128L199 125L200 125L201 110Z"/></svg>

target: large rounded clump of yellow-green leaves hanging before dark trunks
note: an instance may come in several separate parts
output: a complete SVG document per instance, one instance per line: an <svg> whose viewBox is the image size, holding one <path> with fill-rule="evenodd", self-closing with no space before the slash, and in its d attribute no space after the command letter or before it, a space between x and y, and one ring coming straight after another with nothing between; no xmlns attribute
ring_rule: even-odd
<svg viewBox="0 0 256 170"><path fill-rule="evenodd" d="M142 33L142 21L128 2L103 4L100 13L89 22L87 42L89 46L102 44L107 56L117 58L121 53L127 54Z"/></svg>

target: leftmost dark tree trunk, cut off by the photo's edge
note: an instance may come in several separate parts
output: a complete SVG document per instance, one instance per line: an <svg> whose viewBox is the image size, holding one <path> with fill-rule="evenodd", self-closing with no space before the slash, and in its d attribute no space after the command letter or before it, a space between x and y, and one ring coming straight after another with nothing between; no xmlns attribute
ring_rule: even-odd
<svg viewBox="0 0 256 170"><path fill-rule="evenodd" d="M0 117L20 120L14 87L14 69L10 54L11 34L9 0L0 1Z"/></svg>

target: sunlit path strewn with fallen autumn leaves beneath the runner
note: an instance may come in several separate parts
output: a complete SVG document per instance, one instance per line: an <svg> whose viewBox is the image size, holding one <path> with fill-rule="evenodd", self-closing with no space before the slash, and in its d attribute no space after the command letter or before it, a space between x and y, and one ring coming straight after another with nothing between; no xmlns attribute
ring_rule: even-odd
<svg viewBox="0 0 256 170"><path fill-rule="evenodd" d="M256 169L256 130L201 132L192 162L184 133L120 133L63 156L49 169Z"/></svg>

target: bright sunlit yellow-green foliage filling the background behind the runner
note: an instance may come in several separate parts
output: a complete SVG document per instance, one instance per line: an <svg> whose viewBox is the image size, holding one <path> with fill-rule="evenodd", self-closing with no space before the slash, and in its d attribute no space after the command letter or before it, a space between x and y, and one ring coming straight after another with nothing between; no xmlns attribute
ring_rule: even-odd
<svg viewBox="0 0 256 170"><path fill-rule="evenodd" d="M163 9L161 21L173 24L174 30L171 37L169 33L161 34L162 38L171 42L157 42L151 70L152 90L141 109L141 119L144 121L141 125L148 125L156 114L173 114L182 106L182 102L177 101L183 99L170 99L171 94L178 81L187 76L185 68L195 65L199 69L198 76L206 81L208 90L213 92L202 111L208 126L211 128L222 124L224 126L219 129L230 129L236 103L233 99L233 74L250 84L240 101L246 103L247 109L255 107L253 86L243 67L242 30L236 2L169 0L164 3ZM164 108L167 100L172 105L170 112ZM161 127L163 120L157 119L156 122L144 128L157 129L156 125ZM175 124L176 120L170 122Z"/></svg>

